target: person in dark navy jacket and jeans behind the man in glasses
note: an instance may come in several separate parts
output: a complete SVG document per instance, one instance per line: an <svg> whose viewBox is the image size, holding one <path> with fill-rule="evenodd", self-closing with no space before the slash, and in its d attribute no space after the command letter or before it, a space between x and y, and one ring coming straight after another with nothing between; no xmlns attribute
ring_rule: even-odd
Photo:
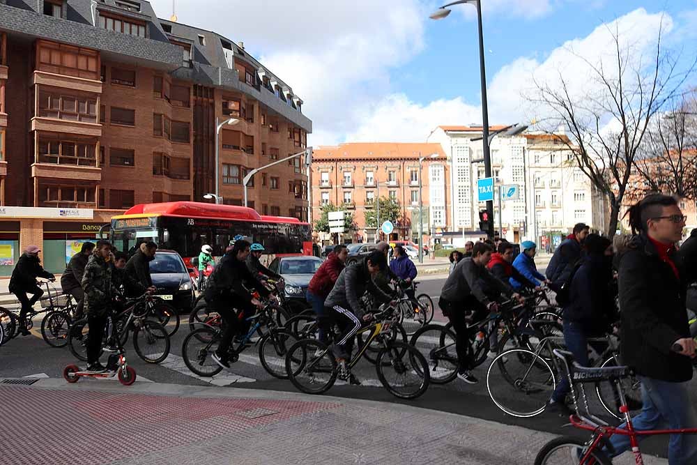
<svg viewBox="0 0 697 465"><path fill-rule="evenodd" d="M618 321L612 282L613 247L608 238L589 234L584 243L585 255L576 270L569 289L569 303L564 307L564 342L574 354L574 360L588 366L588 338L602 337L611 332L611 325ZM597 346L598 353L605 346ZM569 392L569 380L562 377L552 395L547 409L571 415L565 404Z"/></svg>

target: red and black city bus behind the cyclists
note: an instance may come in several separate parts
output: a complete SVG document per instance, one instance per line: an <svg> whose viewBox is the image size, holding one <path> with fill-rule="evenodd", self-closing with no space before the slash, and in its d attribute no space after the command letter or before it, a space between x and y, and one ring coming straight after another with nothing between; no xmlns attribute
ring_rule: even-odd
<svg viewBox="0 0 697 465"><path fill-rule="evenodd" d="M175 250L190 266L203 245L220 257L238 239L260 243L268 254L312 255L309 223L297 218L259 215L243 206L174 201L139 204L112 218L109 238L123 252L153 241L162 249Z"/></svg>

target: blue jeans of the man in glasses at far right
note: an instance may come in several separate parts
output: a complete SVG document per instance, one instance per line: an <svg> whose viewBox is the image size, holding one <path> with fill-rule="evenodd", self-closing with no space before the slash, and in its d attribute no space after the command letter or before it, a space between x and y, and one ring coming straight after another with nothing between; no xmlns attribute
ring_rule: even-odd
<svg viewBox="0 0 697 465"><path fill-rule="evenodd" d="M671 383L638 376L641 381L643 408L631 419L637 431L645 429L677 429L697 427L695 411L689 400L687 383ZM626 427L622 423L620 427ZM641 437L641 436L640 436ZM615 455L629 450L629 436L615 434L610 438ZM671 434L668 442L668 463L687 465L697 463L697 436L695 434Z"/></svg>

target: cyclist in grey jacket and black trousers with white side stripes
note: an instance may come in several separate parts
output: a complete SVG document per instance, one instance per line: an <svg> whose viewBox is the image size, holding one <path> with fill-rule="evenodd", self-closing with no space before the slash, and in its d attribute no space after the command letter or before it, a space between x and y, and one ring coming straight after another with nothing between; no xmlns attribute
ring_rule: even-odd
<svg viewBox="0 0 697 465"><path fill-rule="evenodd" d="M380 303L392 300L392 297L373 282L374 277L387 268L388 260L385 253L374 250L362 261L344 268L325 300L326 311L335 317L342 330L338 342L332 344L332 352L339 364L339 379L352 381L346 360L351 356L353 336L360 329L362 322L367 323L373 317L360 305L361 296L367 291Z"/></svg>

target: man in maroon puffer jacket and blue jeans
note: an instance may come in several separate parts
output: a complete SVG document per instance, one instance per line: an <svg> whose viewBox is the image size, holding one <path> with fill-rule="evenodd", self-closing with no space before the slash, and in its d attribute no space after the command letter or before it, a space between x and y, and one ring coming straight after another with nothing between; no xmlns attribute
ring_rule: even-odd
<svg viewBox="0 0 697 465"><path fill-rule="evenodd" d="M330 330L331 325L331 317L324 310L324 301L346 266L346 259L348 259L346 245L339 244L334 247L334 251L330 252L324 263L314 273L305 294L307 302L312 305L312 310L317 316L319 340L324 344L328 344L327 331Z"/></svg>

